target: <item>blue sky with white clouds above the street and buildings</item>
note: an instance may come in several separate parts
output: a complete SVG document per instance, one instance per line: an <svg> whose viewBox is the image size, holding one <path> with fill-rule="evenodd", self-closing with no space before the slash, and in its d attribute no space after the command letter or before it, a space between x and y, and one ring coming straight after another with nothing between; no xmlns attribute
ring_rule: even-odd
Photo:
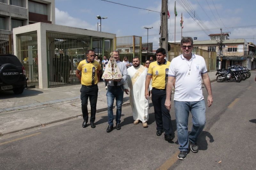
<svg viewBox="0 0 256 170"><path fill-rule="evenodd" d="M148 9L127 7L102 0L55 0L55 22L58 25L73 26L89 30L99 29L96 18L101 20L101 31L120 36L142 36L142 43L153 42L158 48L159 28L161 25L161 0L108 0L111 2ZM209 34L229 33L229 39L244 38L256 44L256 0L176 0L176 34L174 0L168 0L168 41L181 39L180 17L183 16L182 36L208 40ZM156 11L156 12L154 12Z"/></svg>

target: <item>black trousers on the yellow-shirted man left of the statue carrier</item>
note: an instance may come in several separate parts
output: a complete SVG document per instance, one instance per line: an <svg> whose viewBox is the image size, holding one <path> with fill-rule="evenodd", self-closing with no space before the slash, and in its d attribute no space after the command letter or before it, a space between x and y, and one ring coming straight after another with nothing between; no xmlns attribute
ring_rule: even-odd
<svg viewBox="0 0 256 170"><path fill-rule="evenodd" d="M91 105L91 118L90 122L95 121L95 114L96 114L96 104L97 104L97 98L98 98L98 85L94 86L84 86L82 85L80 92L81 92L81 103L82 103L82 113L83 113L83 118L88 122L88 97L90 100L90 105Z"/></svg>

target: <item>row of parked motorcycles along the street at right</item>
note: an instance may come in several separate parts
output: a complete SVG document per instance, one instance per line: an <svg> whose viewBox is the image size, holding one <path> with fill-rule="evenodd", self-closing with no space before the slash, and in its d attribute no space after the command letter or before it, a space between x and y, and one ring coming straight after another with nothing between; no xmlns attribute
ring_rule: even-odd
<svg viewBox="0 0 256 170"><path fill-rule="evenodd" d="M216 69L218 75L216 80L218 82L236 81L240 82L242 80L248 79L251 76L250 70L243 66L229 66L228 69Z"/></svg>

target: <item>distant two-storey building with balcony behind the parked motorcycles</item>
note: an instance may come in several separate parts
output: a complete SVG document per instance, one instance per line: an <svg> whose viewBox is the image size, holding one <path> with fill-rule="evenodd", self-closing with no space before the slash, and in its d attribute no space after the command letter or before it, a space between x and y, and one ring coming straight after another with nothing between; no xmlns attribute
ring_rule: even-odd
<svg viewBox="0 0 256 170"><path fill-rule="evenodd" d="M228 34L222 34L222 53L220 53L220 34L210 34L210 40L194 41L194 47L217 52L217 68L227 68L232 65L245 66L255 69L256 46L245 39L228 39Z"/></svg>

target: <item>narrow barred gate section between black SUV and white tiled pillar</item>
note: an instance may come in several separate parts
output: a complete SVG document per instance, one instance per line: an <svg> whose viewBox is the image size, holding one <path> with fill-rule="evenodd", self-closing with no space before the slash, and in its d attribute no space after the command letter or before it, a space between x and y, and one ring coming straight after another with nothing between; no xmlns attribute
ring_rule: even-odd
<svg viewBox="0 0 256 170"><path fill-rule="evenodd" d="M17 35L17 57L26 69L28 86L38 86L37 33Z"/></svg>

